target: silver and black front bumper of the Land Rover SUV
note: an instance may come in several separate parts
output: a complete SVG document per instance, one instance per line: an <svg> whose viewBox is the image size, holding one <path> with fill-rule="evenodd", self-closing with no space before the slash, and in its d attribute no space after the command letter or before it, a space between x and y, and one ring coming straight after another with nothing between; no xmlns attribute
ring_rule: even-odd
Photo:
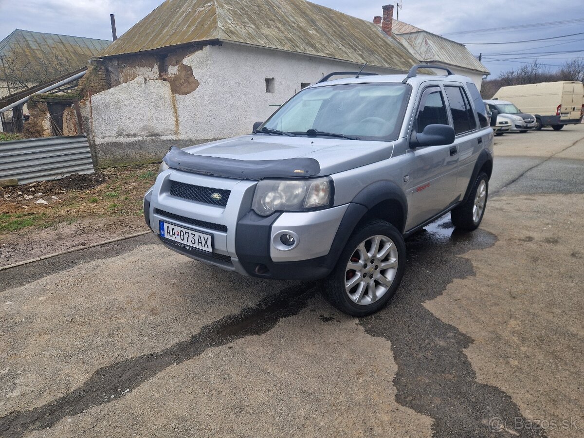
<svg viewBox="0 0 584 438"><path fill-rule="evenodd" d="M173 196L169 190L173 181L230 190L231 193L224 207L208 205ZM162 172L145 195L144 218L167 248L210 265L273 279L325 277L336 263L336 258L335 263L329 263L329 253L349 204L262 217L251 210L255 185L256 182L250 180L215 178L171 169ZM212 235L213 253L161 238L159 221ZM284 233L297 236L290 248L280 242Z"/></svg>

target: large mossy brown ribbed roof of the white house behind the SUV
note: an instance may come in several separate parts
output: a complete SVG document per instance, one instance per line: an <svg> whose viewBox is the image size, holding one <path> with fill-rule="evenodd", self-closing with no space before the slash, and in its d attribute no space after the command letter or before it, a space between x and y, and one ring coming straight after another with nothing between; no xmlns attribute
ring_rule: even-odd
<svg viewBox="0 0 584 438"><path fill-rule="evenodd" d="M210 40L402 71L418 62L373 23L305 0L166 0L97 56Z"/></svg>

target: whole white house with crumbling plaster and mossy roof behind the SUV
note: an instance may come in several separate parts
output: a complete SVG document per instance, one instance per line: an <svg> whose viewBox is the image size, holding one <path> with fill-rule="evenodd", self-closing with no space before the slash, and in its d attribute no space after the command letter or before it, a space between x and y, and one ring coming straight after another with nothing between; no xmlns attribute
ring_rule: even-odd
<svg viewBox="0 0 584 438"><path fill-rule="evenodd" d="M85 131L99 166L152 161L249 133L304 86L365 62L391 74L418 60L373 23L304 0L166 0L94 57Z"/></svg>

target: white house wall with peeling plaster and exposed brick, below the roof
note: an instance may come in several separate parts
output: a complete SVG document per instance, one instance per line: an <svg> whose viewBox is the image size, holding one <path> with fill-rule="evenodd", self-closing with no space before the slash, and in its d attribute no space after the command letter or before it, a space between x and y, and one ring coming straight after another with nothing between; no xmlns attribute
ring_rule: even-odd
<svg viewBox="0 0 584 438"><path fill-rule="evenodd" d="M88 99L82 102L100 167L158 161L171 145L249 133L255 121L277 109L274 105L300 91L301 83L314 84L332 71L360 68L232 43L147 58L117 59L121 84L93 95L91 107ZM150 67L152 60L155 67ZM273 93L266 92L266 78L274 78Z"/></svg>

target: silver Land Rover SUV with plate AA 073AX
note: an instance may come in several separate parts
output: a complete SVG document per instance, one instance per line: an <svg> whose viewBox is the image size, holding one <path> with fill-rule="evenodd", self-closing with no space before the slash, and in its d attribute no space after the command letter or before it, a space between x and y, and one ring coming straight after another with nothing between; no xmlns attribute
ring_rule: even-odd
<svg viewBox="0 0 584 438"><path fill-rule="evenodd" d="M200 262L326 279L343 312L379 310L404 275L406 237L449 211L457 228L479 226L493 168L493 130L471 79L420 68L437 67L333 73L252 134L171 148L144 197L146 223Z"/></svg>

